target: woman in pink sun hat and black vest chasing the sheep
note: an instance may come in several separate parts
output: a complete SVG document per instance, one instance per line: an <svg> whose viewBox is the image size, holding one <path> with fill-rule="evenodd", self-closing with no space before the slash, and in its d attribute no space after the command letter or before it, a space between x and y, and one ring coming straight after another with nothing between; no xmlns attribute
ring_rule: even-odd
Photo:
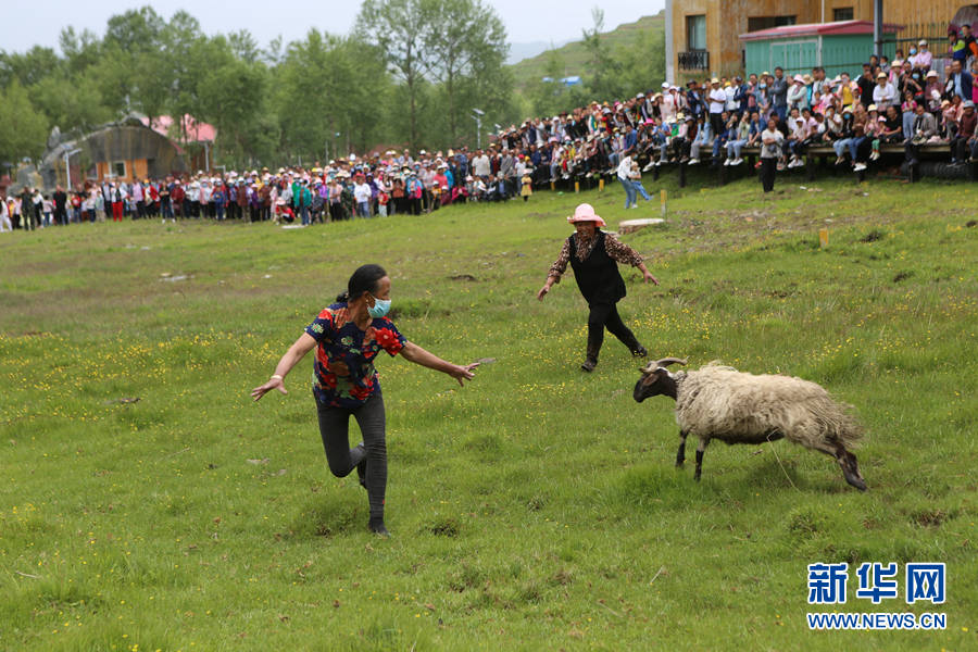
<svg viewBox="0 0 978 652"><path fill-rule="evenodd" d="M645 349L636 339L635 334L622 322L618 309L615 305L625 298L625 280L618 273L617 263L632 265L642 272L642 279L659 285L659 280L652 276L642 256L631 247L618 241L618 239L599 227L605 226L604 220L594 213L591 204L580 204L574 211L574 215L567 217L576 229L564 241L561 254L551 265L547 276L547 283L537 292L537 299L543 301L543 297L560 283L561 276L567 268L567 263L574 269L574 280L580 293L588 302L590 314L588 315L588 351L580 368L591 372L598 365L598 353L604 341L604 329L622 340L636 358L644 358Z"/></svg>

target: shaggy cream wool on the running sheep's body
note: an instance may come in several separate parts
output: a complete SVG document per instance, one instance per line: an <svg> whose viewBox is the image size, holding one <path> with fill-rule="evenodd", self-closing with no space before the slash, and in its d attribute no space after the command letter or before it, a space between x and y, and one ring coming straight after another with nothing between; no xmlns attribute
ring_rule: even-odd
<svg viewBox="0 0 978 652"><path fill-rule="evenodd" d="M680 430L702 439L753 443L778 432L832 453L836 443L849 448L863 434L850 405L808 380L755 376L713 363L676 378L676 422Z"/></svg>

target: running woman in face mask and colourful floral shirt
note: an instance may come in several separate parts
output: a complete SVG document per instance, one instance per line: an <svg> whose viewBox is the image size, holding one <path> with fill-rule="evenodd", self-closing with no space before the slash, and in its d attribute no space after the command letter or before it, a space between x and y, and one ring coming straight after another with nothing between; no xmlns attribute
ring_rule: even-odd
<svg viewBox="0 0 978 652"><path fill-rule="evenodd" d="M380 351L400 353L411 362L443 372L459 380L471 380L478 363L460 366L446 362L408 341L387 316L390 310L390 278L379 265L363 265L337 302L323 309L305 333L296 340L264 385L254 388L255 401L277 389L288 393L284 378L302 358L316 349L313 364L313 394L319 417L319 434L329 469L344 477L354 468L367 490L371 531L387 537L384 497L387 491L386 414L380 380L374 359ZM356 419L363 443L350 448L350 416Z"/></svg>

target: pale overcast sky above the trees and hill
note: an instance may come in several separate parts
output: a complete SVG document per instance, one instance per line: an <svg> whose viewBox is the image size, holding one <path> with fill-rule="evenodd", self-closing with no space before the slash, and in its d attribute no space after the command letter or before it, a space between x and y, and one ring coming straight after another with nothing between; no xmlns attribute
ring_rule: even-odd
<svg viewBox="0 0 978 652"><path fill-rule="evenodd" d="M591 26L591 8L604 10L605 29L631 23L643 15L657 13L665 0L486 0L496 8L506 26L510 42L546 41L560 43L580 38L581 29ZM164 18L184 9L200 21L208 34L247 28L261 47L278 36L286 42L302 38L310 27L333 34L347 34L353 26L360 3L355 0L291 0L276 3L266 0L233 2L186 2L152 0L0 0L3 8L3 38L0 48L23 52L36 45L58 48L62 27L76 32L91 29L100 37L110 16L150 4Z"/></svg>

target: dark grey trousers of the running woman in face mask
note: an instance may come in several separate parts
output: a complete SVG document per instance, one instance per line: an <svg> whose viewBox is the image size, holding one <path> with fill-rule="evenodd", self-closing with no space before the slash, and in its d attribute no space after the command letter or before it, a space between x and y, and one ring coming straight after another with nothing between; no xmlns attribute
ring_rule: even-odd
<svg viewBox="0 0 978 652"><path fill-rule="evenodd" d="M346 477L366 456L366 488L371 503L371 518L384 518L387 492L387 414L384 397L372 396L360 408L328 408L316 401L319 435L326 450L329 471L338 478ZM356 419L363 435L363 448L350 449L350 416Z"/></svg>

